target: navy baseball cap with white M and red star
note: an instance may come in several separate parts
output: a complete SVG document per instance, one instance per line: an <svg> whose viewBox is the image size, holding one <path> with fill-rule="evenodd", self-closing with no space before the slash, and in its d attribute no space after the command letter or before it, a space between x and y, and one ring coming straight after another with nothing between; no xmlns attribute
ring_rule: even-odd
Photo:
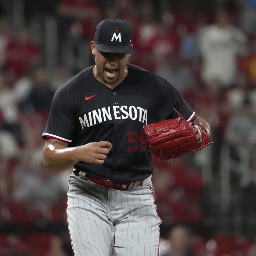
<svg viewBox="0 0 256 256"><path fill-rule="evenodd" d="M116 18L102 20L96 27L94 43L101 52L130 54L131 27Z"/></svg>

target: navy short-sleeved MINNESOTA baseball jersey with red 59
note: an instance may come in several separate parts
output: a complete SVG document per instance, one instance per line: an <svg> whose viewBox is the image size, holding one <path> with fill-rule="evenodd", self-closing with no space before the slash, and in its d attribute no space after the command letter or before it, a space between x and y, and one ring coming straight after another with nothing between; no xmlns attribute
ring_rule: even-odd
<svg viewBox="0 0 256 256"><path fill-rule="evenodd" d="M134 182L152 174L143 125L195 112L163 78L128 64L128 74L114 89L99 82L92 67L61 86L54 95L43 137L69 147L107 140L112 149L104 164L79 161L74 168L114 182Z"/></svg>

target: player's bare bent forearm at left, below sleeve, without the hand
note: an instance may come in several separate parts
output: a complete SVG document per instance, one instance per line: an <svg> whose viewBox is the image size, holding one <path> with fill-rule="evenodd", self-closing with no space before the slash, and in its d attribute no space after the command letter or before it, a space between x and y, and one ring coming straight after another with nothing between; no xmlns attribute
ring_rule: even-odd
<svg viewBox="0 0 256 256"><path fill-rule="evenodd" d="M43 161L47 167L55 170L68 170L78 162L75 157L76 147L66 147L58 143L46 143Z"/></svg>

